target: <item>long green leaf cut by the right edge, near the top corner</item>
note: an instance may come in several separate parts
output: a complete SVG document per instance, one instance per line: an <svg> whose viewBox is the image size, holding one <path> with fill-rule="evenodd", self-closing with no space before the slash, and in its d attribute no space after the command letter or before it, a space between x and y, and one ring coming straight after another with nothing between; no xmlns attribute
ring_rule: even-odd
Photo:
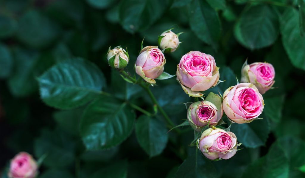
<svg viewBox="0 0 305 178"><path fill-rule="evenodd" d="M284 48L291 63L305 70L305 37L300 35L299 13L294 8L286 8L281 17L281 33Z"/></svg>

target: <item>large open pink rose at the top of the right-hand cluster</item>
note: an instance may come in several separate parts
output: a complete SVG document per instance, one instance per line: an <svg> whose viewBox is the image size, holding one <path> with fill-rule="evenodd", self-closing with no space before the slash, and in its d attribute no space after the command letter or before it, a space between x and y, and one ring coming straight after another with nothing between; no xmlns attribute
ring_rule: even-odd
<svg viewBox="0 0 305 178"><path fill-rule="evenodd" d="M177 67L178 81L189 96L203 96L201 92L217 85L219 80L219 68L209 54L190 51L182 56Z"/></svg>

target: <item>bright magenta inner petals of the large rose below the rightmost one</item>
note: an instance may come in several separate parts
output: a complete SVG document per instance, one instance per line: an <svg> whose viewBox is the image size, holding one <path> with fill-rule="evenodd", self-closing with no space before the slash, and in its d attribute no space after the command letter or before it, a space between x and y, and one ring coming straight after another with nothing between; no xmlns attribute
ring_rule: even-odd
<svg viewBox="0 0 305 178"><path fill-rule="evenodd" d="M253 114L259 113L262 106L259 96L252 88L242 90L239 94L239 103L242 109L249 114L249 117L253 117ZM246 117L247 114L245 114Z"/></svg>

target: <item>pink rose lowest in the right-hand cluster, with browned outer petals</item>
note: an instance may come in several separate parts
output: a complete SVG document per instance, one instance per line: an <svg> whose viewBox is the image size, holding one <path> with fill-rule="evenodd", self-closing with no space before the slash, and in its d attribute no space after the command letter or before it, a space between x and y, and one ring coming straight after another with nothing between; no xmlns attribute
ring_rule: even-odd
<svg viewBox="0 0 305 178"><path fill-rule="evenodd" d="M211 160L229 159L235 155L238 145L234 133L212 127L201 134L198 148Z"/></svg>

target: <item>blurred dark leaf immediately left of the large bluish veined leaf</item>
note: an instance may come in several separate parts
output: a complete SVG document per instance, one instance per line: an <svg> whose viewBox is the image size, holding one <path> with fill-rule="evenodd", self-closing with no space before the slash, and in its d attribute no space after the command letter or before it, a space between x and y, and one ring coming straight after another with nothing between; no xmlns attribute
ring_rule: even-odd
<svg viewBox="0 0 305 178"><path fill-rule="evenodd" d="M38 70L38 53L15 48L14 69L8 79L10 92L17 97L27 96L38 89L35 72Z"/></svg>

